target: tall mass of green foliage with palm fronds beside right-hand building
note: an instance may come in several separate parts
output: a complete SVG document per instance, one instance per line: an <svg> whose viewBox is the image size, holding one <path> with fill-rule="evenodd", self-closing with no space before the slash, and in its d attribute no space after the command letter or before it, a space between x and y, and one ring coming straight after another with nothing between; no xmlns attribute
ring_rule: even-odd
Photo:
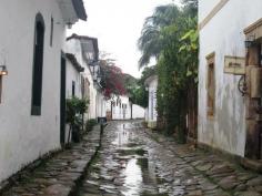
<svg viewBox="0 0 262 196"><path fill-rule="evenodd" d="M199 48L198 1L183 2L183 9L174 4L155 8L153 16L145 20L139 40L141 59L147 60L140 61L140 66L147 64L148 59L157 58L159 122L165 134L177 133L181 143L185 135L189 91L196 87ZM150 37L151 31L155 34ZM158 50L151 48L154 43Z"/></svg>

